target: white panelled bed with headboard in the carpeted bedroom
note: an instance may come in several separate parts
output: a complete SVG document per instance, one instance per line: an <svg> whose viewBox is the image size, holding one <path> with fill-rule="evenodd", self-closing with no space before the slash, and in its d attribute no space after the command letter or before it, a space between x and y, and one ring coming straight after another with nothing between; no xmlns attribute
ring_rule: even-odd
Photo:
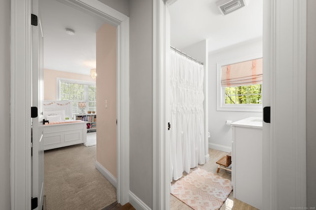
<svg viewBox="0 0 316 210"><path fill-rule="evenodd" d="M86 142L86 122L72 120L70 101L44 101L44 150Z"/></svg>

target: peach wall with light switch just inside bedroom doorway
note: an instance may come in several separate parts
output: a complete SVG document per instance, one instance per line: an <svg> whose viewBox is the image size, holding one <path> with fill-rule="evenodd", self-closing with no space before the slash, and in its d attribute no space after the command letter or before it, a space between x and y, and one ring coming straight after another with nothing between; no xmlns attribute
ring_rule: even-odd
<svg viewBox="0 0 316 210"><path fill-rule="evenodd" d="M116 28L104 24L96 34L97 161L115 177L117 177L116 43Z"/></svg>

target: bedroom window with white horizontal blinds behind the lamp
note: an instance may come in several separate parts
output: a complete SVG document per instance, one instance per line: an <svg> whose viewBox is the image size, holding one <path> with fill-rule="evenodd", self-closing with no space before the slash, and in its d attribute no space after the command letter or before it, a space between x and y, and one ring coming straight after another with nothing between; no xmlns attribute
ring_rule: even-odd
<svg viewBox="0 0 316 210"><path fill-rule="evenodd" d="M96 85L93 83L60 79L59 98L73 102L73 114L81 113L82 109L96 111Z"/></svg>

